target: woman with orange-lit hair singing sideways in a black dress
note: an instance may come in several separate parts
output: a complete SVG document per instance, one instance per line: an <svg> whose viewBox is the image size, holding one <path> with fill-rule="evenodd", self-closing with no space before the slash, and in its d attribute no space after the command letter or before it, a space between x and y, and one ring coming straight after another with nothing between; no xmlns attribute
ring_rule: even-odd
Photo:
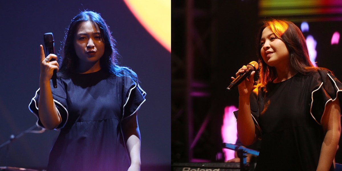
<svg viewBox="0 0 342 171"><path fill-rule="evenodd" d="M259 78L254 84L250 71L238 84L237 116L242 144L261 139L255 170L333 170L342 83L328 69L313 66L293 23L267 21L257 39ZM236 76L246 70L242 66Z"/></svg>

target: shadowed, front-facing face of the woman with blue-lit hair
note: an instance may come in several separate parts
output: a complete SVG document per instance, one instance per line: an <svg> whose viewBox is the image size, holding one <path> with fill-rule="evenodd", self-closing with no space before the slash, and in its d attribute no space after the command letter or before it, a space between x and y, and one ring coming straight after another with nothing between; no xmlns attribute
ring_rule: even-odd
<svg viewBox="0 0 342 171"><path fill-rule="evenodd" d="M100 64L99 60L105 50L100 28L90 21L80 23L75 34L74 47L80 67Z"/></svg>

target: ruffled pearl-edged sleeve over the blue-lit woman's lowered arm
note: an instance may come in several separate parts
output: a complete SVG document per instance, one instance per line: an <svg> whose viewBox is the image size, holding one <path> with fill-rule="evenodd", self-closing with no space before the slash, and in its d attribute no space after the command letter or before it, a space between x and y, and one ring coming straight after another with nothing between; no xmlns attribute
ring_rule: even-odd
<svg viewBox="0 0 342 171"><path fill-rule="evenodd" d="M125 70L131 77L123 76L122 119L132 116L146 101L146 92L140 87L136 74L128 68Z"/></svg>

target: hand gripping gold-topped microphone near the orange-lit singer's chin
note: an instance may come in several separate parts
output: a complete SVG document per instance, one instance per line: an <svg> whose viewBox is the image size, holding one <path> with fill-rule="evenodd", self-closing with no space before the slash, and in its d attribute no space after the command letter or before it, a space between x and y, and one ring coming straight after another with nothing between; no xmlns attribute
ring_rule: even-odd
<svg viewBox="0 0 342 171"><path fill-rule="evenodd" d="M250 93L253 89L254 73L255 70L258 69L258 67L259 65L255 61L250 62L246 66L242 66L242 68L240 68L239 71L236 73L236 78L234 79L234 77L231 77L233 81L229 84L227 90L230 91L241 83L241 85L239 86L239 94L244 95Z"/></svg>

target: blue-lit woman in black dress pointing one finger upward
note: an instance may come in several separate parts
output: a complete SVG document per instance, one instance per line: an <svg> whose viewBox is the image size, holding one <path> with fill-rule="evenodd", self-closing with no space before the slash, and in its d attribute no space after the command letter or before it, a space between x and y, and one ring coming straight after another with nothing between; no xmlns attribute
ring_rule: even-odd
<svg viewBox="0 0 342 171"><path fill-rule="evenodd" d="M48 170L140 170L136 111L145 101L136 74L117 63L114 39L101 16L76 15L62 46L45 57L40 45L40 88L29 109L37 124L60 130ZM57 88L51 88L53 70Z"/></svg>

